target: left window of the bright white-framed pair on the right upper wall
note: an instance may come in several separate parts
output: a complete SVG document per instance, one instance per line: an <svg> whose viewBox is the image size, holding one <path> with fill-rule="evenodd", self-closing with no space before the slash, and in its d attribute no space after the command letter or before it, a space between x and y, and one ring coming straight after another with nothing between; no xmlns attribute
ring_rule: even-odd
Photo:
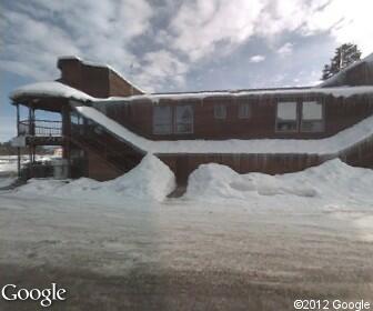
<svg viewBox="0 0 373 311"><path fill-rule="evenodd" d="M295 101L278 102L276 131L295 132L298 130L298 104Z"/></svg>

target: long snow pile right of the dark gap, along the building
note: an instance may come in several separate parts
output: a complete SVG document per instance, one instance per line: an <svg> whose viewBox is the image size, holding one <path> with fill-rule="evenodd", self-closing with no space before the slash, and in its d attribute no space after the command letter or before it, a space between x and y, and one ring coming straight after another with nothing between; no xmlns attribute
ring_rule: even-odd
<svg viewBox="0 0 373 311"><path fill-rule="evenodd" d="M373 205L372 184L373 170L352 168L339 159L301 172L279 175L239 174L225 165L202 164L190 175L185 198L250 203L273 197L273 202L280 200L286 204L289 198L298 197L327 203L350 200Z"/></svg>

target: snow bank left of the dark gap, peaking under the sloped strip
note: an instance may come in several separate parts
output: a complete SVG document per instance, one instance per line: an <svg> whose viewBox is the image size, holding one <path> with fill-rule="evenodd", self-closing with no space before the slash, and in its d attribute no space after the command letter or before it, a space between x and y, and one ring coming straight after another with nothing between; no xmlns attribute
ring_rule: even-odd
<svg viewBox="0 0 373 311"><path fill-rule="evenodd" d="M174 187L175 178L169 167L157 157L148 154L138 167L114 180L99 182L88 178L74 181L33 179L18 191L115 202L128 198L162 201Z"/></svg>

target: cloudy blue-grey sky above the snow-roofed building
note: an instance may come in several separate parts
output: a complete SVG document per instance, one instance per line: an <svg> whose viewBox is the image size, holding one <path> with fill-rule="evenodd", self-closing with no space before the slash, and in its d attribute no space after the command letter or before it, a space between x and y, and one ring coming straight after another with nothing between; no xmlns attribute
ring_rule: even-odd
<svg viewBox="0 0 373 311"><path fill-rule="evenodd" d="M59 78L57 59L108 63L148 92L310 86L337 46L373 52L372 0L0 1L0 141L9 93Z"/></svg>

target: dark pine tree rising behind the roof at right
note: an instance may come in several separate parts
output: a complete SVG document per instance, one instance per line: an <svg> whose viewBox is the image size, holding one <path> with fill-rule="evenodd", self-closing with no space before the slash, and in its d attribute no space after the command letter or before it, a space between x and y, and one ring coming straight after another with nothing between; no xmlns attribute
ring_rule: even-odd
<svg viewBox="0 0 373 311"><path fill-rule="evenodd" d="M361 51L356 44L344 43L335 49L335 54L331 59L331 64L325 64L322 71L322 80L326 80L342 69L360 60Z"/></svg>

